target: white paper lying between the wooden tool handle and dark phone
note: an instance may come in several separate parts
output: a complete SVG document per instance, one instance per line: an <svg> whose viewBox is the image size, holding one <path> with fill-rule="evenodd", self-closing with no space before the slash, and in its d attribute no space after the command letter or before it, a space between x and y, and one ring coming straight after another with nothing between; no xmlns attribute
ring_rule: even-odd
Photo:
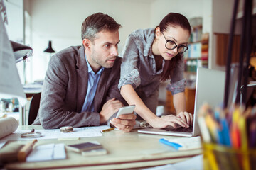
<svg viewBox="0 0 256 170"><path fill-rule="evenodd" d="M35 147L26 158L26 162L50 161L53 159L65 159L65 145L48 144Z"/></svg>

